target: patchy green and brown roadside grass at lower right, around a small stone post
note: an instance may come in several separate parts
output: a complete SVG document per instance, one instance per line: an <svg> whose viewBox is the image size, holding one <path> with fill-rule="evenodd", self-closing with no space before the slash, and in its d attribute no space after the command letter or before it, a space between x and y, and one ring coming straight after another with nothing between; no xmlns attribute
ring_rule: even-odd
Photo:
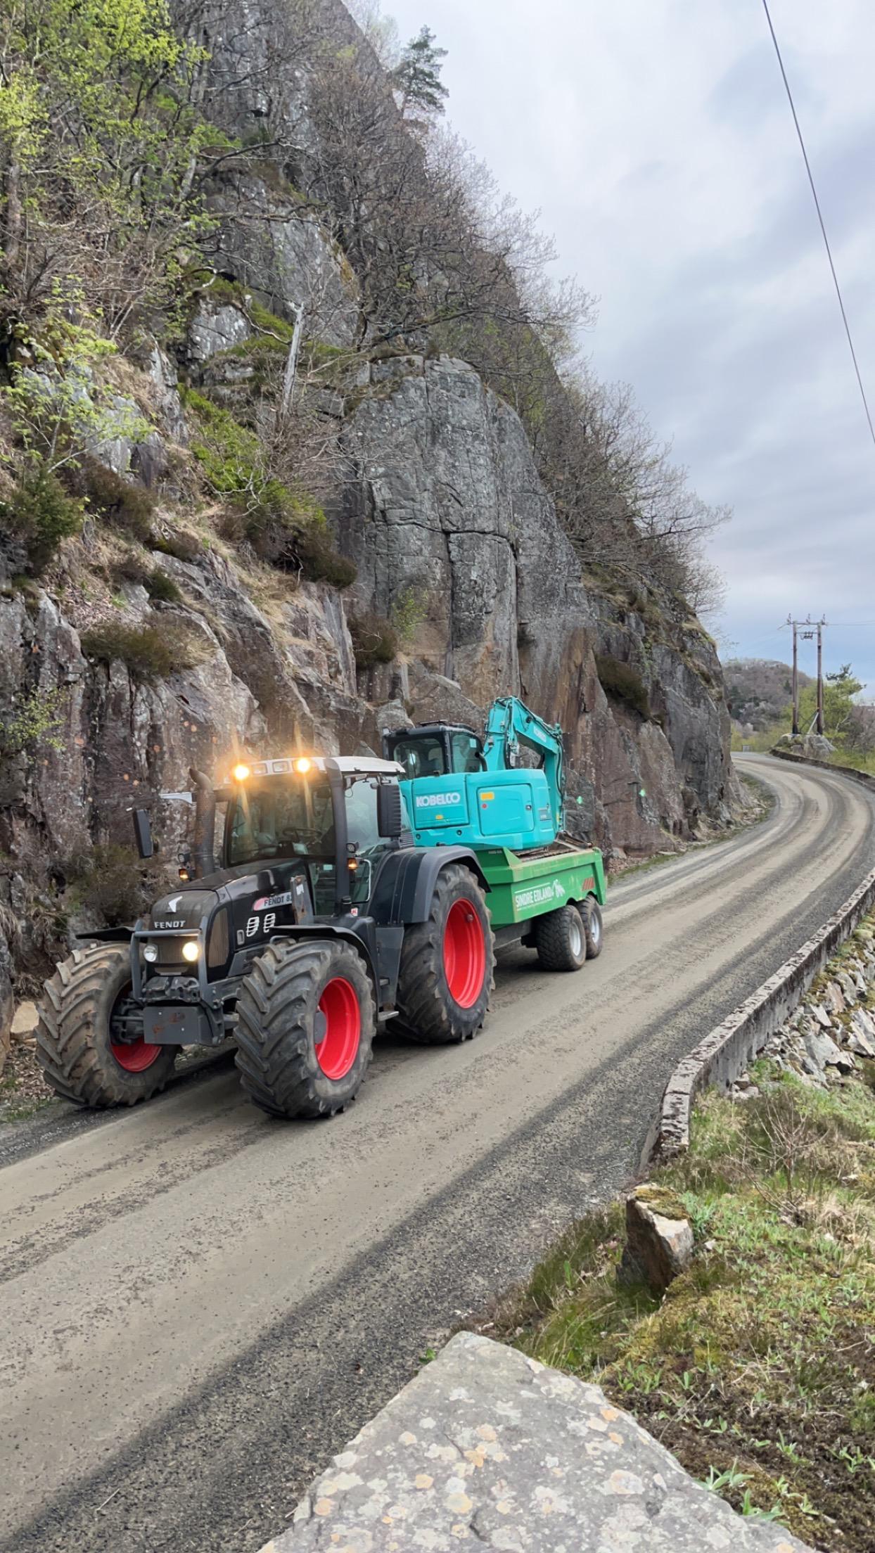
<svg viewBox="0 0 875 1553"><path fill-rule="evenodd" d="M595 1381L741 1514L875 1547L875 1095L760 1064L707 1095L657 1171L696 1256L662 1300L617 1286L623 1204L573 1225L480 1331Z"/></svg>

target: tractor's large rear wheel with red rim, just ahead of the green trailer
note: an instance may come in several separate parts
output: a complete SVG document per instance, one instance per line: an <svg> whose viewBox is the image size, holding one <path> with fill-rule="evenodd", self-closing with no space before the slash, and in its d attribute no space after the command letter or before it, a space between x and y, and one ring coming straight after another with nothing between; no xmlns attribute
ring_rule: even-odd
<svg viewBox="0 0 875 1553"><path fill-rule="evenodd" d="M458 935L454 935L455 922ZM458 972L446 957L448 935L462 940ZM474 946L471 963L463 961L468 936ZM482 950L477 947L480 940ZM432 1047L476 1036L490 1008L494 966L493 929L480 884L469 868L448 863L438 874L427 921L415 922L404 933L398 1013L410 1039Z"/></svg>

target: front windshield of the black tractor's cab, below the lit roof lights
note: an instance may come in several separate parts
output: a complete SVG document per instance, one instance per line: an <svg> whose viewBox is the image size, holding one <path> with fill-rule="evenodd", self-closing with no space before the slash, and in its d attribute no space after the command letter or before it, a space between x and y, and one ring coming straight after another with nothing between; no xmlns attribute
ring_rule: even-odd
<svg viewBox="0 0 875 1553"><path fill-rule="evenodd" d="M261 857L334 859L334 808L323 776L277 778L233 800L228 867Z"/></svg>

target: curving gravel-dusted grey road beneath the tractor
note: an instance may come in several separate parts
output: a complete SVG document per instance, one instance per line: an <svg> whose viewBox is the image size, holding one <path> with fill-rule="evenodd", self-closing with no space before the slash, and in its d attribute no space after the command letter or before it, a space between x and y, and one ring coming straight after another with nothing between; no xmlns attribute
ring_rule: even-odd
<svg viewBox="0 0 875 1553"><path fill-rule="evenodd" d="M839 775L611 890L578 975L502 961L462 1048L384 1037L351 1110L274 1123L233 1067L0 1169L0 1547L250 1553L556 1227L628 1179L681 1054L875 865Z"/></svg>

